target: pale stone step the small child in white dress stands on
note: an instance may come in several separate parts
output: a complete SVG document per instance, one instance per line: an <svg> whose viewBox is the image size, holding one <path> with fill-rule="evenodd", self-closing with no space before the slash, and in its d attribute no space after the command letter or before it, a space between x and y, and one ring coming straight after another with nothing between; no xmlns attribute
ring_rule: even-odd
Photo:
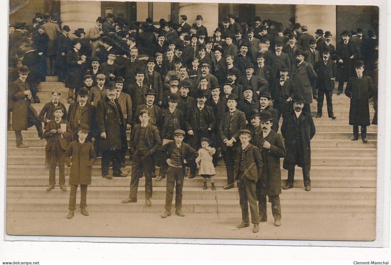
<svg viewBox="0 0 391 265"><path fill-rule="evenodd" d="M217 188L211 190L200 187L185 187L183 194L191 200L239 200L239 192L236 188L224 190ZM175 191L174 191L175 193ZM139 187L137 192L140 200L145 197L145 188ZM129 197L129 187L88 187L88 199L126 199ZM153 199L165 199L166 188L154 187ZM7 198L17 199L69 199L69 189L63 192L58 186L46 191L45 187L8 186ZM80 193L77 193L80 199ZM174 195L175 198L175 195ZM303 188L283 190L281 200L376 200L376 188L313 188L311 192L305 192Z"/></svg>

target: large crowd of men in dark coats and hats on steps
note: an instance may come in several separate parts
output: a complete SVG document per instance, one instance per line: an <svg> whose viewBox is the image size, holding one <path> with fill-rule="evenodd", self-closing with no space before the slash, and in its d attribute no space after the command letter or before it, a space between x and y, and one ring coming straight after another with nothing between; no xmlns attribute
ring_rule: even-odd
<svg viewBox="0 0 391 265"><path fill-rule="evenodd" d="M249 202L253 231L259 231L258 223L267 220L266 195L274 224L280 226L280 158L288 170L283 189L293 187L298 165L305 190L310 191L310 140L315 134L310 104L317 100L320 118L326 96L328 117L335 119L335 81L338 95L347 82L352 140L358 140L361 126L362 141L367 141L368 100L377 95L378 39L372 29L365 37L360 28L344 30L334 47L330 31L317 29L312 36L294 18L284 29L282 23L259 16L254 25L241 25L232 14L208 36L202 16L189 21L193 19L190 26L181 14L178 22L161 19L156 27L150 18L129 23L122 16L98 17L89 38L82 28L71 33L48 13L36 13L31 29L26 23L10 25L8 109L13 110L17 147L28 147L21 131L32 125L44 138L41 122L46 126L62 106L73 140L78 139L80 125L88 125L87 140L102 156L102 177L126 177L121 168L130 150L130 195L123 203L137 201L144 174L146 204L151 205L152 178L155 165L160 166L156 181L167 177L166 211L161 216L167 217L174 183L176 214L183 216L185 164L189 178L194 178L195 150L206 138L217 149L214 165L224 158L224 189L235 183L239 187L243 222L238 227L249 226ZM38 115L31 106L40 102L36 86L54 75L69 88L65 97L70 107L67 111L58 100L61 94L54 91L53 100ZM131 131L130 148L126 131ZM49 160L47 153L47 165Z"/></svg>

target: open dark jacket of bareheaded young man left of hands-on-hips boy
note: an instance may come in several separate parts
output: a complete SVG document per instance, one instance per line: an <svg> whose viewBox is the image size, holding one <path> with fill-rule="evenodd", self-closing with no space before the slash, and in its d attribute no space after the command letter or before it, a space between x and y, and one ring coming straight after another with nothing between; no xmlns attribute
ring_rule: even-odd
<svg viewBox="0 0 391 265"><path fill-rule="evenodd" d="M131 154L135 152L138 134L140 133L141 124L136 124L133 127L131 136L130 136L130 152ZM151 154L155 154L158 149L161 147L161 139L159 135L158 128L150 123L148 123L145 128L145 145L151 152Z"/></svg>

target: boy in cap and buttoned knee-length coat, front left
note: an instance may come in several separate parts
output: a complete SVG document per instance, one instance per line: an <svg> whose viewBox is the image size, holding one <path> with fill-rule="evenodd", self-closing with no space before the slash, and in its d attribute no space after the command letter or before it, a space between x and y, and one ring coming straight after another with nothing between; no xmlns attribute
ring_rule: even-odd
<svg viewBox="0 0 391 265"><path fill-rule="evenodd" d="M87 206L87 185L91 184L92 166L97 158L92 143L86 140L90 127L81 124L77 130L79 139L71 142L65 152L65 163L71 168L69 184L71 191L69 195L69 213L66 218L70 219L75 215L77 186L80 185L80 213L88 215Z"/></svg>

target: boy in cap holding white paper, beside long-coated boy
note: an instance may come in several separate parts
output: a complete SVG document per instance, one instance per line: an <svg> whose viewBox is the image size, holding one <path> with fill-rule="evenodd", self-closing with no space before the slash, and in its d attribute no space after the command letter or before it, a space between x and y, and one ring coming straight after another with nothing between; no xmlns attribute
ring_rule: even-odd
<svg viewBox="0 0 391 265"><path fill-rule="evenodd" d="M60 172L59 184L62 191L66 191L65 187L65 170L64 170L64 154L68 148L68 143L72 140L71 128L62 116L64 115L63 108L56 106L54 108L54 119L50 120L45 126L43 137L47 139L46 152L49 159L49 186L47 191L50 192L56 185L56 163ZM65 128L64 128L65 127Z"/></svg>

